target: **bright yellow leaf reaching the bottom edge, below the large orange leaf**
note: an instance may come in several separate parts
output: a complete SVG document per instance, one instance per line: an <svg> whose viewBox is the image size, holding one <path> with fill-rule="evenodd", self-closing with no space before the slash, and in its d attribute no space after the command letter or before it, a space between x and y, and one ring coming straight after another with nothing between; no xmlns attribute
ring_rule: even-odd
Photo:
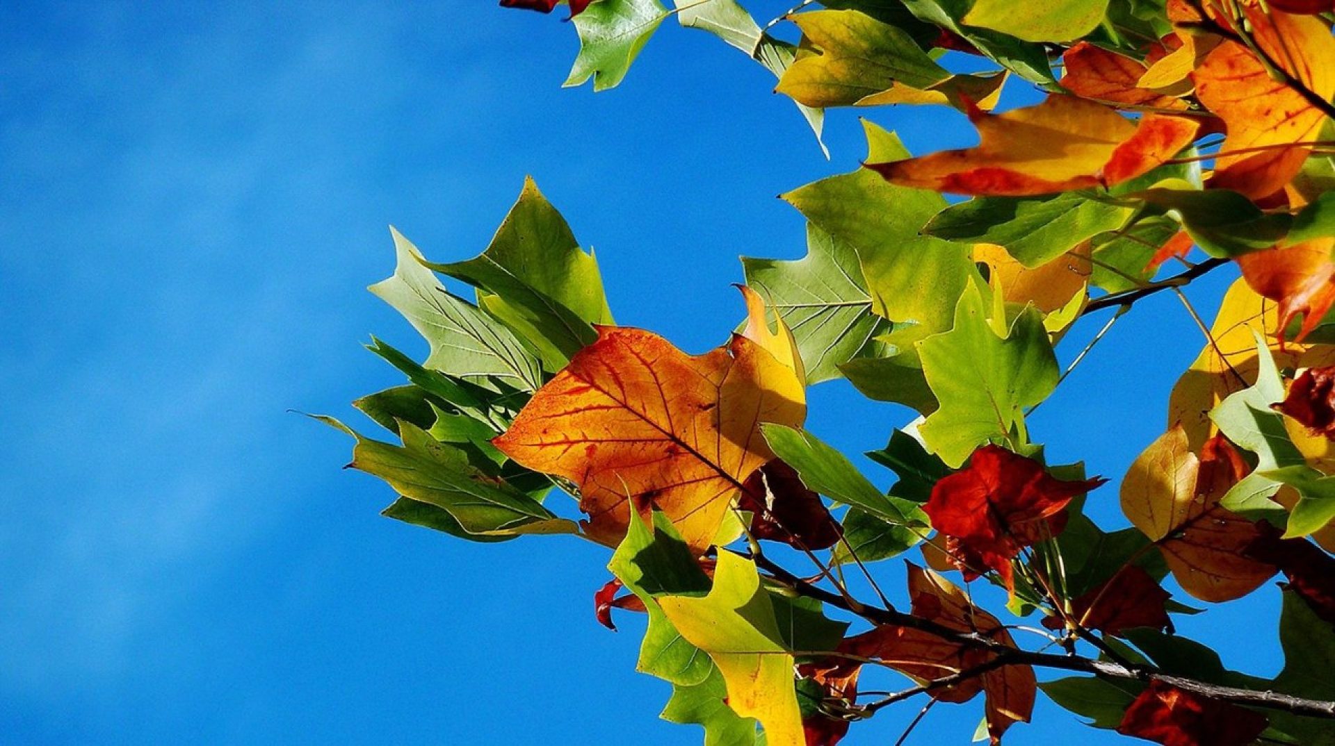
<svg viewBox="0 0 1335 746"><path fill-rule="evenodd" d="M728 686L728 706L760 721L766 743L805 746L793 657L780 643L754 563L720 552L709 595L659 597L658 606L686 642L709 654Z"/></svg>

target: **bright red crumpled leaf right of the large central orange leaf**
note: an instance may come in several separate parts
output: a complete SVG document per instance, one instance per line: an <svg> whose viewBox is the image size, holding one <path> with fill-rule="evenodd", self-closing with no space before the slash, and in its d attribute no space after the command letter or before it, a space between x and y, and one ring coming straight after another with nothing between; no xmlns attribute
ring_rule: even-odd
<svg viewBox="0 0 1335 746"><path fill-rule="evenodd" d="M1011 561L1061 531L1061 511L1104 479L1063 480L1041 463L1000 446L973 451L969 464L932 488L924 510L932 527L949 536L949 548L965 579L996 570L1015 589Z"/></svg>

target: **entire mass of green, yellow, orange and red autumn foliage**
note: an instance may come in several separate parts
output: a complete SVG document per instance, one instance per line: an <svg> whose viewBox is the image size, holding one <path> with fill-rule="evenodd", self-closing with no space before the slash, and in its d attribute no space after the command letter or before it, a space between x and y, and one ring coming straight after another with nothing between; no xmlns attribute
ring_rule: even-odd
<svg viewBox="0 0 1335 746"><path fill-rule="evenodd" d="M734 0L567 7L567 85L615 87L676 19L774 73L817 137L828 107L913 104L959 109L979 144L913 156L866 124L862 168L782 195L806 256L744 259L745 319L696 356L615 326L531 180L473 259L427 262L395 231L371 290L430 355L371 346L407 382L355 404L396 442L324 418L398 495L386 515L609 547L597 618L647 615L638 669L706 745L830 746L898 702L980 695L1000 743L1040 690L1168 746L1335 743L1335 5L828 0L765 25ZM1043 100L997 111L1009 87ZM1100 527L1085 495L1107 479L1048 463L1027 418L1136 302L1189 307L1227 264L1242 279L1120 479L1131 527ZM1096 314L1064 370L1055 346ZM888 494L802 428L806 387L836 378L920 415L869 454ZM910 550L901 609L877 583ZM1276 575L1278 677L1173 634L1200 611L1181 601ZM1004 609L961 587L980 579ZM1027 619L1048 645L1011 634ZM909 683L860 693L869 667Z"/></svg>

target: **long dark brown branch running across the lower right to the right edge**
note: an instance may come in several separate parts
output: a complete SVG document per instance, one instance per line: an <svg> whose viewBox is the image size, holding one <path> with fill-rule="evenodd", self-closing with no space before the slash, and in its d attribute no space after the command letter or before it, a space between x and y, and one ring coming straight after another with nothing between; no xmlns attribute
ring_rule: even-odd
<svg viewBox="0 0 1335 746"><path fill-rule="evenodd" d="M817 601L829 603L837 609L842 609L852 614L872 622L873 625L896 625L901 627L909 627L914 630L921 630L941 639L957 643L965 647L976 647L988 650L996 654L995 658L989 659L985 665L980 665L975 669L967 669L957 674L951 674L949 677L943 677L936 679L936 683L928 682L924 687L914 687L913 690L905 690L905 693L898 693L897 699L904 699L912 697L913 694L921 694L922 691L929 691L930 689L940 686L949 686L951 683L957 683L964 678L981 675L989 670L999 666L1009 665L1027 665L1044 669L1055 669L1063 671L1076 671L1083 674L1093 674L1095 677L1103 679L1113 681L1161 681L1167 685L1175 686L1177 689L1191 691L1193 694L1200 694L1202 697L1208 697L1219 702L1230 702L1234 705L1243 705L1248 707L1259 707L1264 710L1282 710L1286 713L1292 713L1295 715L1306 715L1311 718L1324 718L1335 719L1335 702L1326 702L1320 699L1307 699L1303 697L1292 697L1288 694L1280 694L1278 691L1256 691L1252 689L1239 689L1234 686L1219 686L1199 679L1192 679L1187 677L1176 677L1165 674L1156 669L1155 666L1145 665L1124 665L1111 661L1096 661L1092 658L1084 658L1081 655L1059 655L1055 653L1032 653L1028 650L1021 650L1012 647L1004 642L992 639L984 634L977 633L961 633L953 630L944 625L939 625L930 619L924 619L921 617L914 617L912 614L905 614L902 611L896 611L894 609L878 609L873 606L853 605L848 603L842 597L833 594L820 586L812 585L802 578L798 578L784 570L773 561L757 556L753 558L756 565L769 573L774 581L793 589L794 591L814 598ZM947 681L949 679L949 681ZM876 705L876 703L873 703ZM873 705L868 705L872 707Z"/></svg>

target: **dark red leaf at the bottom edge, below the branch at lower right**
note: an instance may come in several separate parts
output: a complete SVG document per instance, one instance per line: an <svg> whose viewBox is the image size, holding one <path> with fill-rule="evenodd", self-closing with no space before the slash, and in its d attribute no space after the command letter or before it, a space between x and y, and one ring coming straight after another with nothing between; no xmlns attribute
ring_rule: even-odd
<svg viewBox="0 0 1335 746"><path fill-rule="evenodd" d="M1267 725L1260 713L1153 679L1127 707L1117 733L1164 746L1247 746Z"/></svg>

